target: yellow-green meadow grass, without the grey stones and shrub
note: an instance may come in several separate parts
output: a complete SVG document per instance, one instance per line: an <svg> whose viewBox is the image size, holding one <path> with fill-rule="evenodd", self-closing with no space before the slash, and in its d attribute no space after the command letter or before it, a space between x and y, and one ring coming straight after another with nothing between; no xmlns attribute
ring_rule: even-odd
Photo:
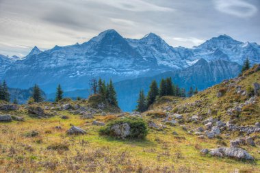
<svg viewBox="0 0 260 173"><path fill-rule="evenodd" d="M240 81L239 85L244 88L259 81L260 73L254 74ZM229 118L226 117L225 109L232 107L230 101L234 99L233 89L222 98L216 98L216 92L222 87L216 85L179 103L162 102L162 105L176 107L201 99L202 107L190 107L183 115L192 116L198 111L202 114L211 107L218 109L216 116L227 120ZM244 101L246 98L239 99ZM155 107L159 109L162 105ZM243 112L237 123L253 124L259 118L259 100L254 108L254 113L246 116L250 118L244 118ZM260 172L259 146L244 146L256 158L255 162L203 156L200 155L200 149L216 148L219 139L198 139L196 135L187 134L179 125L168 126L164 131L150 129L145 140L117 140L100 136L100 127L92 126L91 123L92 120L105 122L114 116L95 116L92 120L82 120L79 115L70 114L69 111L57 111L57 114L66 115L69 119L63 120L60 116L36 119L29 117L24 108L8 114L23 116L25 122L0 122L0 172L234 172L236 169L242 172ZM144 118L148 120L148 117ZM161 123L159 119L154 121ZM71 124L86 129L87 134L66 135ZM188 123L185 125L193 128L200 126ZM62 130L55 129L56 126L62 127ZM37 137L25 137L25 133L32 130L40 134ZM172 135L172 131L179 133L179 137ZM232 138L224 135L222 137L221 142L229 145ZM47 146L51 144L64 144L69 150L47 150Z"/></svg>

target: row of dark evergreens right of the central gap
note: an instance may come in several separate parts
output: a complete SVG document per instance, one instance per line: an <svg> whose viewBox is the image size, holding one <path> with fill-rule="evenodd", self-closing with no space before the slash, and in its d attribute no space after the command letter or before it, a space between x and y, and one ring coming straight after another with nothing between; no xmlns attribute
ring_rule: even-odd
<svg viewBox="0 0 260 173"><path fill-rule="evenodd" d="M161 96L180 96L185 97L185 89L179 88L179 85L174 85L172 83L172 78L168 77L166 79L161 79L159 83L159 88L157 82L154 80L150 85L147 97L144 95L144 90L140 91L138 98L138 105L136 111L146 111L150 105L155 103L155 100Z"/></svg>

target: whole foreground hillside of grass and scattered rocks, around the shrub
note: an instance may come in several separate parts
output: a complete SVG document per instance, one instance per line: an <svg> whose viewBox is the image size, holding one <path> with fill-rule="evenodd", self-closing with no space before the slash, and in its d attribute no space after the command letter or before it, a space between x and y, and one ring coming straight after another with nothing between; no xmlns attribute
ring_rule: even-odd
<svg viewBox="0 0 260 173"><path fill-rule="evenodd" d="M191 98L161 98L143 114L112 113L98 97L1 102L0 172L259 172L259 96L248 88L259 77L255 66ZM146 122L144 139L99 134L101 126L127 117ZM226 150L229 157L218 157Z"/></svg>

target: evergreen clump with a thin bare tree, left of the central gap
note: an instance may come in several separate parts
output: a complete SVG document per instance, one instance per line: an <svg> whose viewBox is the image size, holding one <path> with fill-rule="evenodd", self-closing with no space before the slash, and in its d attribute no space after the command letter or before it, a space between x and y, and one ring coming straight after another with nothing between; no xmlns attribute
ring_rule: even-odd
<svg viewBox="0 0 260 173"><path fill-rule="evenodd" d="M110 79L109 83L105 83L105 80L102 80L99 78L99 81L96 83L96 85L91 85L92 87L95 87L96 93L94 94L100 94L104 101L107 101L107 103L111 105L115 105L118 107L118 101L116 98L116 90L114 88L113 82ZM94 88L92 88L94 90ZM94 90L94 91L95 91Z"/></svg>

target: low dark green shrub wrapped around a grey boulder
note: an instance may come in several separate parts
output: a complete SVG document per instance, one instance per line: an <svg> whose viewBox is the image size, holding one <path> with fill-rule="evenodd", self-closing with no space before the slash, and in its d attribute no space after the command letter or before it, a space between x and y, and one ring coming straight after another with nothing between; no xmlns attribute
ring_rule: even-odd
<svg viewBox="0 0 260 173"><path fill-rule="evenodd" d="M122 118L120 120L113 120L99 130L100 135L109 135L113 136L111 128L115 124L124 124L127 123L130 126L130 135L127 136L129 138L144 138L148 133L148 128L146 122L142 120L142 118Z"/></svg>

